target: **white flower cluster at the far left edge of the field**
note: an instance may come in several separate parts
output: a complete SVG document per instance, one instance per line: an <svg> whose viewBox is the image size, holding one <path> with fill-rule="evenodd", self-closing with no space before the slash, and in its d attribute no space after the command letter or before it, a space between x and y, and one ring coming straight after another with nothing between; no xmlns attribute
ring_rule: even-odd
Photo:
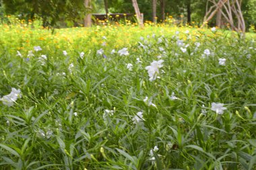
<svg viewBox="0 0 256 170"><path fill-rule="evenodd" d="M9 93L9 95L4 95L0 99L0 101L2 101L4 105L11 107L14 104L14 102L21 97L22 94L20 92L20 89L11 88L11 93Z"/></svg>

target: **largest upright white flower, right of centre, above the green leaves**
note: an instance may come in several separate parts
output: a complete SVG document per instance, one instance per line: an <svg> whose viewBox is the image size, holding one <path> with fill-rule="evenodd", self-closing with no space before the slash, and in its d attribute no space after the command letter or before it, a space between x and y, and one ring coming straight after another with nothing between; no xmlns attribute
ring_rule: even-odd
<svg viewBox="0 0 256 170"><path fill-rule="evenodd" d="M153 62L150 63L150 66L147 66L145 69L148 70L148 76L150 77L150 81L154 81L159 74L159 69L163 67L162 62L164 60L153 60Z"/></svg>

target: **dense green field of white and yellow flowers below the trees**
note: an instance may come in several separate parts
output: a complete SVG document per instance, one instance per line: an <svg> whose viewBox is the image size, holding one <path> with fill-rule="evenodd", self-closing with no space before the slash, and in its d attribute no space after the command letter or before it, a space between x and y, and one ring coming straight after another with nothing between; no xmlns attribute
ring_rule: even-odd
<svg viewBox="0 0 256 170"><path fill-rule="evenodd" d="M255 38L2 28L0 169L256 168Z"/></svg>

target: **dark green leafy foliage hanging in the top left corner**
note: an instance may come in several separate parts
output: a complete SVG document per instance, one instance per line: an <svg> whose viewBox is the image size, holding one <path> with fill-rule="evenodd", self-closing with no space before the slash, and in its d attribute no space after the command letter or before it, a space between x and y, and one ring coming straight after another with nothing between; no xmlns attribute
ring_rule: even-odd
<svg viewBox="0 0 256 170"><path fill-rule="evenodd" d="M75 0L3 0L7 14L19 15L22 19L42 19L44 27L57 26L59 22L77 22L85 15L84 1Z"/></svg>

